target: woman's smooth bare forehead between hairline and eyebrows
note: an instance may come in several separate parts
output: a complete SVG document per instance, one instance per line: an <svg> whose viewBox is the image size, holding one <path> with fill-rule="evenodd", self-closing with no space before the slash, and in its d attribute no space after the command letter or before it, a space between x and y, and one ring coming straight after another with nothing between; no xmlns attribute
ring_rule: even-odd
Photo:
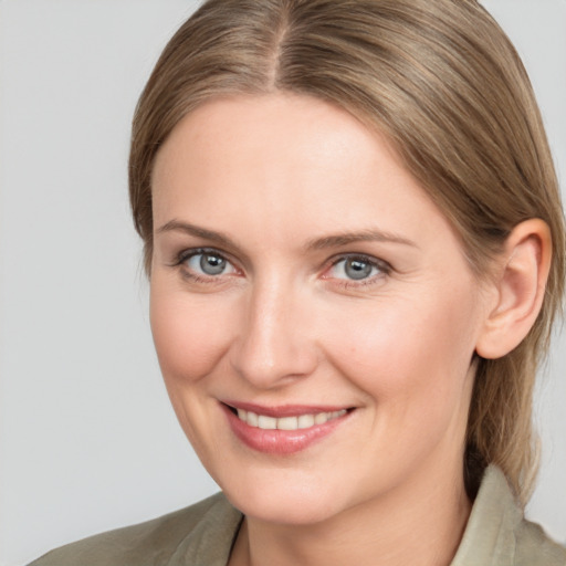
<svg viewBox="0 0 566 566"><path fill-rule="evenodd" d="M262 238L289 234L290 222L293 234L361 224L397 232L400 223L412 237L450 230L384 136L310 96L208 102L174 129L153 180L156 224L186 214L256 226Z"/></svg>

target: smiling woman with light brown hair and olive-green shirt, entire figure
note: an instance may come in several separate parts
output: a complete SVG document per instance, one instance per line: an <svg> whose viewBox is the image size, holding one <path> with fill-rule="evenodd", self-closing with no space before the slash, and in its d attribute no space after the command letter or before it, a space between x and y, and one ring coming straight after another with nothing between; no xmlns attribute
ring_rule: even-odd
<svg viewBox="0 0 566 566"><path fill-rule="evenodd" d="M130 198L223 494L36 564L566 563L522 516L557 181L476 2L206 2L142 95Z"/></svg>

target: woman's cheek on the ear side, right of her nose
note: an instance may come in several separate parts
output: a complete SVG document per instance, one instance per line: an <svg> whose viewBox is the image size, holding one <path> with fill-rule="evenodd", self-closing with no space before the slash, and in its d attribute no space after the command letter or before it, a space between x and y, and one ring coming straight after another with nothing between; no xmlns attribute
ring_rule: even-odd
<svg viewBox="0 0 566 566"><path fill-rule="evenodd" d="M422 295L420 295L422 296ZM327 328L328 355L375 401L420 402L426 412L460 395L473 354L473 303L428 294L390 297Z"/></svg>

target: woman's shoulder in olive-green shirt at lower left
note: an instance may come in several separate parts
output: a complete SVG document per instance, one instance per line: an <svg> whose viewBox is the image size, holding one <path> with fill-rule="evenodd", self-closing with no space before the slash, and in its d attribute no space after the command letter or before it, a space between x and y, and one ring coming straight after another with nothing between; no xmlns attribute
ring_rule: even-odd
<svg viewBox="0 0 566 566"><path fill-rule="evenodd" d="M240 513L218 493L153 521L62 546L30 566L172 566L185 563L191 552L229 552L240 521Z"/></svg>

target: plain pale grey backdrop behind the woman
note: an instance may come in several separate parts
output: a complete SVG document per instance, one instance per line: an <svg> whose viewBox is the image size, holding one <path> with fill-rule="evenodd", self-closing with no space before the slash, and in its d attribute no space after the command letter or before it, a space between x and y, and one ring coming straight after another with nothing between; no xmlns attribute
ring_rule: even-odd
<svg viewBox="0 0 566 566"><path fill-rule="evenodd" d="M566 1L490 0L566 180ZM188 0L0 1L0 565L217 490L153 350L126 196L129 123ZM536 419L527 509L566 542L566 339Z"/></svg>

